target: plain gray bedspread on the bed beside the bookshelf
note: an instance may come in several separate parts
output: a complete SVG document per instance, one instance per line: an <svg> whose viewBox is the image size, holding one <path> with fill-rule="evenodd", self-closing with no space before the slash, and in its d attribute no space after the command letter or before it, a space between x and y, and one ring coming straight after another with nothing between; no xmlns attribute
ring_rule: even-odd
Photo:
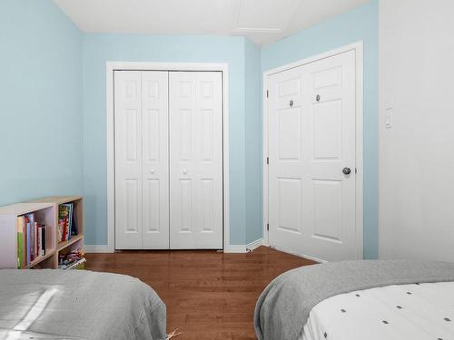
<svg viewBox="0 0 454 340"><path fill-rule="evenodd" d="M166 338L165 305L137 278L87 270L0 270L0 339Z"/></svg>

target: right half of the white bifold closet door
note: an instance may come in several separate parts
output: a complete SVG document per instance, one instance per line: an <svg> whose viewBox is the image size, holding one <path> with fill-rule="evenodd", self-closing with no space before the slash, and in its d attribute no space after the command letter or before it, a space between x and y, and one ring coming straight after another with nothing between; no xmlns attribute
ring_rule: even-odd
<svg viewBox="0 0 454 340"><path fill-rule="evenodd" d="M222 248L222 73L169 82L170 248Z"/></svg>

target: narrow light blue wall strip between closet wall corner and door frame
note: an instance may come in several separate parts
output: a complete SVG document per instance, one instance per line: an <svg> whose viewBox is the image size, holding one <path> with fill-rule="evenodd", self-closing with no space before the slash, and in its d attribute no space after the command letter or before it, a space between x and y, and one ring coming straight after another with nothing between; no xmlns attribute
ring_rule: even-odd
<svg viewBox="0 0 454 340"><path fill-rule="evenodd" d="M261 49L245 40L246 244L262 238Z"/></svg>

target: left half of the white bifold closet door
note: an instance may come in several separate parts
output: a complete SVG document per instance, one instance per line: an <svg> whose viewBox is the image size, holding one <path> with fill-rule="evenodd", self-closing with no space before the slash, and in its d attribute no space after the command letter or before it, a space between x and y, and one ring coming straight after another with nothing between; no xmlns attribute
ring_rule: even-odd
<svg viewBox="0 0 454 340"><path fill-rule="evenodd" d="M168 73L115 71L115 248L169 248Z"/></svg>

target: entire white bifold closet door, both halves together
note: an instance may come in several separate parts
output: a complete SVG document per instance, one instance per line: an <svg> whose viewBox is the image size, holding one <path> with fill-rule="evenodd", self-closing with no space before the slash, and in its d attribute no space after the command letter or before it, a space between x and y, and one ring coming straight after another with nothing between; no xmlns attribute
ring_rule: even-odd
<svg viewBox="0 0 454 340"><path fill-rule="evenodd" d="M115 71L115 248L222 248L222 73Z"/></svg>

